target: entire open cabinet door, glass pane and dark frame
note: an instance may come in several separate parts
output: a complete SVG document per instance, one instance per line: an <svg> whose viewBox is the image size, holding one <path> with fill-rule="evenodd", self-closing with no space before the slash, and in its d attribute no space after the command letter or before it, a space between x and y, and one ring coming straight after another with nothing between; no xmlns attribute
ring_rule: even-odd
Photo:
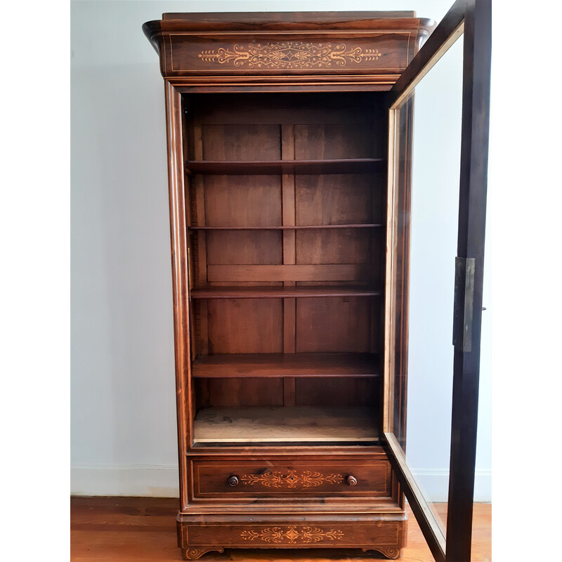
<svg viewBox="0 0 562 562"><path fill-rule="evenodd" d="M383 443L438 562L471 556L490 46L490 0L457 1L388 98ZM447 79L455 64L459 84ZM448 99L426 88L432 81ZM443 457L440 509L426 491L436 475L416 470L419 452Z"/></svg>

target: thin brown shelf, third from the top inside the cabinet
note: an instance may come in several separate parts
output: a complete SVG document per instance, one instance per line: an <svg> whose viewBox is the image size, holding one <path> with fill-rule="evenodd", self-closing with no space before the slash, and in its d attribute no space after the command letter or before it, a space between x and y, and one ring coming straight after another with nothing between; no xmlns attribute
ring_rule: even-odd
<svg viewBox="0 0 562 562"><path fill-rule="evenodd" d="M288 299L311 296L380 296L372 287L315 285L306 287L201 287L191 289L192 299Z"/></svg>

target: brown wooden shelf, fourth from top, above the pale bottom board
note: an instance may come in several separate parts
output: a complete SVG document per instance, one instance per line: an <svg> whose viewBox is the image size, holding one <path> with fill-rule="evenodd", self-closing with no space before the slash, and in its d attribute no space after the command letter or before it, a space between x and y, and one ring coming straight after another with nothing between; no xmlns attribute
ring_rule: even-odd
<svg viewBox="0 0 562 562"><path fill-rule="evenodd" d="M245 353L200 355L193 377L378 377L379 356L372 353Z"/></svg>

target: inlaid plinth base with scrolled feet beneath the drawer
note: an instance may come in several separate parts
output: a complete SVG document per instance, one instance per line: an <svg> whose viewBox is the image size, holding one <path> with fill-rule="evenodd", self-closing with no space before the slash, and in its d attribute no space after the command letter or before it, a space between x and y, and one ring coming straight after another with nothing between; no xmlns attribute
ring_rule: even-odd
<svg viewBox="0 0 562 562"><path fill-rule="evenodd" d="M178 514L178 547L187 560L223 549L337 548L375 550L398 558L406 514Z"/></svg>

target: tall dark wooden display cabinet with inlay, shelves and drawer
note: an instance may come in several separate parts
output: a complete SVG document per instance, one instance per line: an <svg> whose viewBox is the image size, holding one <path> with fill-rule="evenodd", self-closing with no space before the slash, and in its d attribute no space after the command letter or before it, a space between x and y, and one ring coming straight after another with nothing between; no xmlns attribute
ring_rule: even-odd
<svg viewBox="0 0 562 562"><path fill-rule="evenodd" d="M466 25L461 4L439 44ZM404 492L426 511L402 452L412 99L399 96L433 27L414 12L166 13L143 26L166 93L187 559L398 558Z"/></svg>

